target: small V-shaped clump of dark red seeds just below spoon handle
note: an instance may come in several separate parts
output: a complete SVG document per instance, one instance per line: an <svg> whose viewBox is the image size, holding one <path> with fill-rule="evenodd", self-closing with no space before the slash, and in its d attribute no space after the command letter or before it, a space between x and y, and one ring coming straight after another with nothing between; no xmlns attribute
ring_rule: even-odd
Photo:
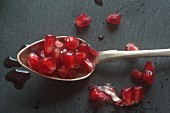
<svg viewBox="0 0 170 113"><path fill-rule="evenodd" d="M131 72L131 76L136 80L142 80L151 85L154 82L155 73L154 64L152 61L147 61L142 72L134 69Z"/></svg>

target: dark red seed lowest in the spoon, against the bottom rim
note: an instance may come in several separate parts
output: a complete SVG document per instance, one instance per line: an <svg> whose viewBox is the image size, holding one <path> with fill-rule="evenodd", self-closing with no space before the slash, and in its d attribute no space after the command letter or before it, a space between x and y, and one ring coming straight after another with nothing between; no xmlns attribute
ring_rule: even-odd
<svg viewBox="0 0 170 113"><path fill-rule="evenodd" d="M65 66L60 67L58 71L59 71L59 76L61 78L72 79L77 76L77 73L74 69L70 69Z"/></svg>

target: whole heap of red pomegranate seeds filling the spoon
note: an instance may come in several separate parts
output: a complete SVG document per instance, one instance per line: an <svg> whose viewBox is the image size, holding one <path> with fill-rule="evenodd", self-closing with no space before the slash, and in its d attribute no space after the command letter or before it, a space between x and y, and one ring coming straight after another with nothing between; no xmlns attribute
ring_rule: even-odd
<svg viewBox="0 0 170 113"><path fill-rule="evenodd" d="M94 70L97 55L96 50L74 36L57 39L47 34L44 49L30 53L27 63L31 69L47 76L72 79Z"/></svg>

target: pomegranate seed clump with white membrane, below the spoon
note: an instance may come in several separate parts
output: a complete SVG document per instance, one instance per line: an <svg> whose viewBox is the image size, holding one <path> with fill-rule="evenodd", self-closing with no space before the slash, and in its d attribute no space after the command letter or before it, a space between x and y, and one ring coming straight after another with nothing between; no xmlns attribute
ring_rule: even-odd
<svg viewBox="0 0 170 113"><path fill-rule="evenodd" d="M144 96L142 86L123 88L121 90L122 99L119 98L115 89L111 85L95 86L90 85L89 99L92 101L106 101L118 106L130 106L139 103Z"/></svg>

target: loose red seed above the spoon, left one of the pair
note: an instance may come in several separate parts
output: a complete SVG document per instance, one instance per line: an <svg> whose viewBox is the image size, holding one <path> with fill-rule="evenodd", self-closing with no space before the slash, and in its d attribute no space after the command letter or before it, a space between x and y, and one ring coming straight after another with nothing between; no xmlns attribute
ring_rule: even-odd
<svg viewBox="0 0 170 113"><path fill-rule="evenodd" d="M90 23L91 18L86 13L82 13L75 19L75 24L78 27L88 26Z"/></svg>

